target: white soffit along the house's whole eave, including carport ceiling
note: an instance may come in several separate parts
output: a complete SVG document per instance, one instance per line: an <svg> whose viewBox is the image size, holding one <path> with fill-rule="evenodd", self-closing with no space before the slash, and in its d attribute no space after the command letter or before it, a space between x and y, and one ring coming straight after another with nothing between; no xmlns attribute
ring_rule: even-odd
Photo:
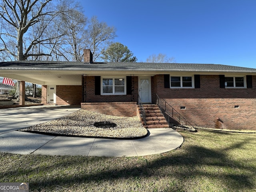
<svg viewBox="0 0 256 192"><path fill-rule="evenodd" d="M245 71L206 71L206 70L124 70L124 69L80 69L80 70L44 70L44 69L6 69L0 70L0 76L41 85L82 85L84 76L154 76L156 74L201 74L201 75L255 75Z"/></svg>

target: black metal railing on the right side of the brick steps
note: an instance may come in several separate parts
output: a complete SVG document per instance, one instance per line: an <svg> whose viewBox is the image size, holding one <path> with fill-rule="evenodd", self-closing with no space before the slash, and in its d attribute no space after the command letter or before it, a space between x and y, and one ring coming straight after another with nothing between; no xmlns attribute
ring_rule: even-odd
<svg viewBox="0 0 256 192"><path fill-rule="evenodd" d="M166 100L159 98L158 94L156 94L156 104L159 106L162 114L166 118L169 126L180 126L189 128L189 130L194 131L194 126L186 120L181 114L178 113Z"/></svg>

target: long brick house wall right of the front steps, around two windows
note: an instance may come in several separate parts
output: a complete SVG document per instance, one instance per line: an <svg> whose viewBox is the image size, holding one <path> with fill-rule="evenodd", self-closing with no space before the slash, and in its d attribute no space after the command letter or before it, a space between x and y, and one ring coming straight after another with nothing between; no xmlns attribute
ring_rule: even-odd
<svg viewBox="0 0 256 192"><path fill-rule="evenodd" d="M155 101L157 93L195 126L256 130L256 76L252 80L251 89L225 89L220 88L218 75L201 75L200 88L170 89L164 88L164 76L157 75L152 96Z"/></svg>

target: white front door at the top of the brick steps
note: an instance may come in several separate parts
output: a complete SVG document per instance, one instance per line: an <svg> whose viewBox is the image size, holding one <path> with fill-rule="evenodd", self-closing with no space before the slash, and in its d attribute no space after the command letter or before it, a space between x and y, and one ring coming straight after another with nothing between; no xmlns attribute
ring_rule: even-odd
<svg viewBox="0 0 256 192"><path fill-rule="evenodd" d="M151 103L151 78L139 77L139 95L142 103Z"/></svg>

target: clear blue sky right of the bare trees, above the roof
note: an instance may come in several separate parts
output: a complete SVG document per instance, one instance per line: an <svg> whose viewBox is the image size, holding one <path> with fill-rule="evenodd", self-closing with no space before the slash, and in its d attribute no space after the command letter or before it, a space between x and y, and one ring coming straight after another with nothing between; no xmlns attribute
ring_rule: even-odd
<svg viewBox="0 0 256 192"><path fill-rule="evenodd" d="M256 0L80 0L88 18L116 28L138 62L166 54L177 63L256 68Z"/></svg>

